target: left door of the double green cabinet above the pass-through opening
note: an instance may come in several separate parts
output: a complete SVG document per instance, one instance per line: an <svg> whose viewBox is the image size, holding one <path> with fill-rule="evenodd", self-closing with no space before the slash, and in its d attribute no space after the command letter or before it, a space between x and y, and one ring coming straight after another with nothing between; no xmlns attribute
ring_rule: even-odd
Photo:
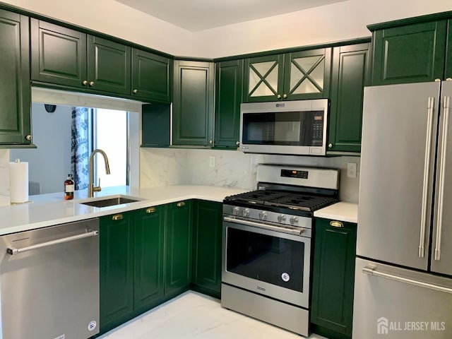
<svg viewBox="0 0 452 339"><path fill-rule="evenodd" d="M85 88L86 34L35 18L30 23L32 80Z"/></svg>

